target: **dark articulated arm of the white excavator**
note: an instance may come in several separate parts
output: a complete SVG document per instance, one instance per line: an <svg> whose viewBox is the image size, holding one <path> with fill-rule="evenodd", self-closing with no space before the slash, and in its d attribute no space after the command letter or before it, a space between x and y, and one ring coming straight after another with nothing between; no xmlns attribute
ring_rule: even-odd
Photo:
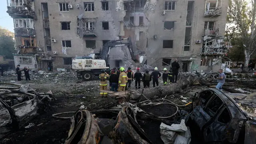
<svg viewBox="0 0 256 144"><path fill-rule="evenodd" d="M125 40L128 38L123 38L120 40L112 40L112 41L108 41L106 44L104 44L102 51L100 53L100 59L101 60L105 60L107 62L108 60L108 56L109 56L109 52L111 48L116 48L116 47L120 47L120 46L127 46L129 49L129 52L131 54L132 60L135 60L135 56L134 56L134 51L133 51L133 47L132 47L132 42L130 42L130 40L128 39L128 42L118 42L121 40Z"/></svg>

